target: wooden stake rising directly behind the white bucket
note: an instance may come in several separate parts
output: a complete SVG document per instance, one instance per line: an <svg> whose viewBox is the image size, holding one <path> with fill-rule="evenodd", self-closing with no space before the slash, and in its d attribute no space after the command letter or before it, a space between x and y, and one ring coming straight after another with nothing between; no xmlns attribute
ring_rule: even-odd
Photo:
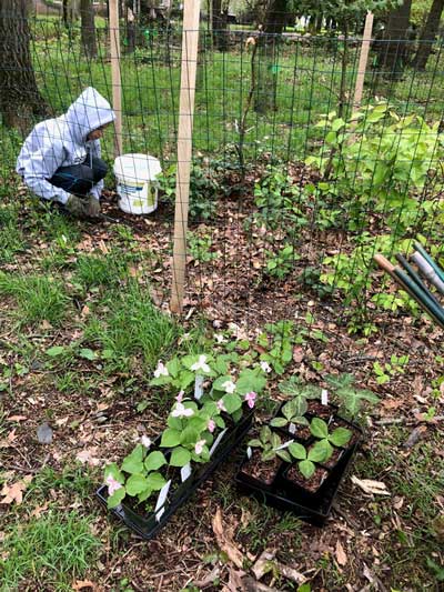
<svg viewBox="0 0 444 592"><path fill-rule="evenodd" d="M115 112L114 157L119 157L122 153L122 82L120 79L119 1L110 0L109 7L112 108Z"/></svg>

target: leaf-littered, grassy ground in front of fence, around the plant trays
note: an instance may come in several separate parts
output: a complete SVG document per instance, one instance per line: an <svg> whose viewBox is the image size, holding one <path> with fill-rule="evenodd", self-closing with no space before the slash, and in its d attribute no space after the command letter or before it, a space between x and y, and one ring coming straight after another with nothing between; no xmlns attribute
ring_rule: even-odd
<svg viewBox="0 0 444 592"><path fill-rule="evenodd" d="M244 230L248 211L235 201L191 229L211 244L189 257L175 323L167 305L171 210L161 204L133 220L108 199L104 212L118 223L46 211L12 182L0 205L0 590L442 590L441 331L426 319L384 313L370 337L350 335L341 302L320 300L299 280L337 237L305 242L294 273L271 281L262 273L265 238ZM134 298L129 279L162 319ZM171 339L144 341L138 327L150 314ZM205 351L214 332L254 349L258 331L279 320L296 328L285 375L322 384L327 373L351 372L381 398L364 417L363 443L325 525L239 494L240 450L153 540L141 540L99 504L95 490L105 463L162 429L170 402L148 387L158 360L178 349ZM279 401L282 378L271 377L258 422ZM364 491L352 476L386 490ZM271 568L264 574L260 558Z"/></svg>

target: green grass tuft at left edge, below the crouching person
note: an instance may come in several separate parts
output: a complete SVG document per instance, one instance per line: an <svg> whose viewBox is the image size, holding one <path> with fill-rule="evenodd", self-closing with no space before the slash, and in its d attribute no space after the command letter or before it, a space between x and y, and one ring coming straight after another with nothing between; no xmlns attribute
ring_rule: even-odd
<svg viewBox="0 0 444 592"><path fill-rule="evenodd" d="M12 314L20 325L38 324L43 320L58 325L69 303L62 283L46 275L0 271L0 295L11 297L16 301L17 310Z"/></svg>

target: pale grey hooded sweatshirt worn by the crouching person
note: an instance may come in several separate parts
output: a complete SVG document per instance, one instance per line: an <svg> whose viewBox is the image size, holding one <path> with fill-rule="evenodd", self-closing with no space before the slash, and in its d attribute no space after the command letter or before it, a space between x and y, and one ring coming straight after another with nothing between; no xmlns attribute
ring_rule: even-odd
<svg viewBox="0 0 444 592"><path fill-rule="evenodd" d="M115 119L110 103L95 89L88 88L64 116L38 123L24 140L17 160L17 172L27 185L42 199L67 203L69 192L48 180L60 167L80 164L87 150L100 158L100 140L87 141L88 134ZM103 181L91 189L100 198Z"/></svg>

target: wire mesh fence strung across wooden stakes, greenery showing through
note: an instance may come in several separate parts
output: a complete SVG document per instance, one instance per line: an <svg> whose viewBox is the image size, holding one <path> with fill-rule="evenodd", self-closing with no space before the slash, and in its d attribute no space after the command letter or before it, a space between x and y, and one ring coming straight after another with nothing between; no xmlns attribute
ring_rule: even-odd
<svg viewBox="0 0 444 592"><path fill-rule="evenodd" d="M93 57L80 27L39 17L29 27L32 69L49 114L65 112L85 87L111 100L108 21L95 29ZM171 255L182 34L180 27L127 23L121 30L123 152L162 163L152 221L163 261ZM214 47L218 34L225 51ZM442 43L434 42L420 70L413 67L417 41L374 39L356 110L361 41L240 27L218 33L202 26L186 307L215 322L254 327L292 319L332 335L371 334L421 315L375 271L373 255L405 253L414 239L441 254ZM22 134L1 129L9 179ZM102 149L112 162L111 132ZM109 213L114 185L110 173ZM171 267L162 270L168 300Z"/></svg>

